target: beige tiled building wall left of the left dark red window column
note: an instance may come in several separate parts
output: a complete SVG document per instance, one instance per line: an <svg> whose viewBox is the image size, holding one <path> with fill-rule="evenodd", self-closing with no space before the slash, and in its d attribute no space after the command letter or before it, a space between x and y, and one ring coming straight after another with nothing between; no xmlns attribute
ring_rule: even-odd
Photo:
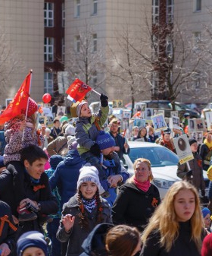
<svg viewBox="0 0 212 256"><path fill-rule="evenodd" d="M14 97L30 69L33 69L30 95L34 100L42 101L44 84L43 7L42 0L0 0L0 27L8 47L5 51L9 49L13 56L13 59L8 61L8 65L15 67L12 74L6 74L5 85L0 84L1 105L5 105L6 98Z"/></svg>

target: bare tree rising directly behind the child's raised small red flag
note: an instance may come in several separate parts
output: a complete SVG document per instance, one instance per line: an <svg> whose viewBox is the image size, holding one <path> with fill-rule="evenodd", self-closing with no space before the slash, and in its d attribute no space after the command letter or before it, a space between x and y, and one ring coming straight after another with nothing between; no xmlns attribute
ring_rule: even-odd
<svg viewBox="0 0 212 256"><path fill-rule="evenodd" d="M101 40L92 25L85 21L85 26L76 34L67 55L65 69L70 77L78 77L93 89L104 82L104 55Z"/></svg>

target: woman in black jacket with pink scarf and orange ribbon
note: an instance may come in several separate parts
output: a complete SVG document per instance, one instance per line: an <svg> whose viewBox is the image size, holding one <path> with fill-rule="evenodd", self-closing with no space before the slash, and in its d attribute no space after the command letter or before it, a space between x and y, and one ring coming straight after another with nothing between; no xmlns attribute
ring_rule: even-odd
<svg viewBox="0 0 212 256"><path fill-rule="evenodd" d="M142 231L161 198L158 189L151 184L153 176L149 160L137 159L134 170L133 177L120 187L112 207L112 219L115 225L136 226Z"/></svg>

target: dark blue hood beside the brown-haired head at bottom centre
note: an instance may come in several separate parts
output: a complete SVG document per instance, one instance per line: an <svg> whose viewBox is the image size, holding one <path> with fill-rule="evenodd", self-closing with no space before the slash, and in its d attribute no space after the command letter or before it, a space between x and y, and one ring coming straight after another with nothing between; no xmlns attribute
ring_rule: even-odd
<svg viewBox="0 0 212 256"><path fill-rule="evenodd" d="M84 240L82 248L86 254L95 255L95 251L98 255L101 252L101 256L108 255L108 251L105 249L104 237L108 230L113 227L113 224L101 223L95 226L92 232L89 233L88 237Z"/></svg>

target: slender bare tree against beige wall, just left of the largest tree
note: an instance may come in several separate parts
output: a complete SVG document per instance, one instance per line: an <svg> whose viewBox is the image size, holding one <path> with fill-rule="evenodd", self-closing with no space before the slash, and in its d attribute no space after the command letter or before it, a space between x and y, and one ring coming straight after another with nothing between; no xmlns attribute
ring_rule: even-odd
<svg viewBox="0 0 212 256"><path fill-rule="evenodd" d="M146 89L146 81L143 80L141 57L135 51L139 49L137 38L133 26L126 24L122 31L116 32L116 48L113 49L108 44L110 58L107 71L111 75L111 81L115 81L113 84L116 84L116 90L120 95L124 95L132 102L132 115L135 100L139 100L141 95L144 99L149 90Z"/></svg>

